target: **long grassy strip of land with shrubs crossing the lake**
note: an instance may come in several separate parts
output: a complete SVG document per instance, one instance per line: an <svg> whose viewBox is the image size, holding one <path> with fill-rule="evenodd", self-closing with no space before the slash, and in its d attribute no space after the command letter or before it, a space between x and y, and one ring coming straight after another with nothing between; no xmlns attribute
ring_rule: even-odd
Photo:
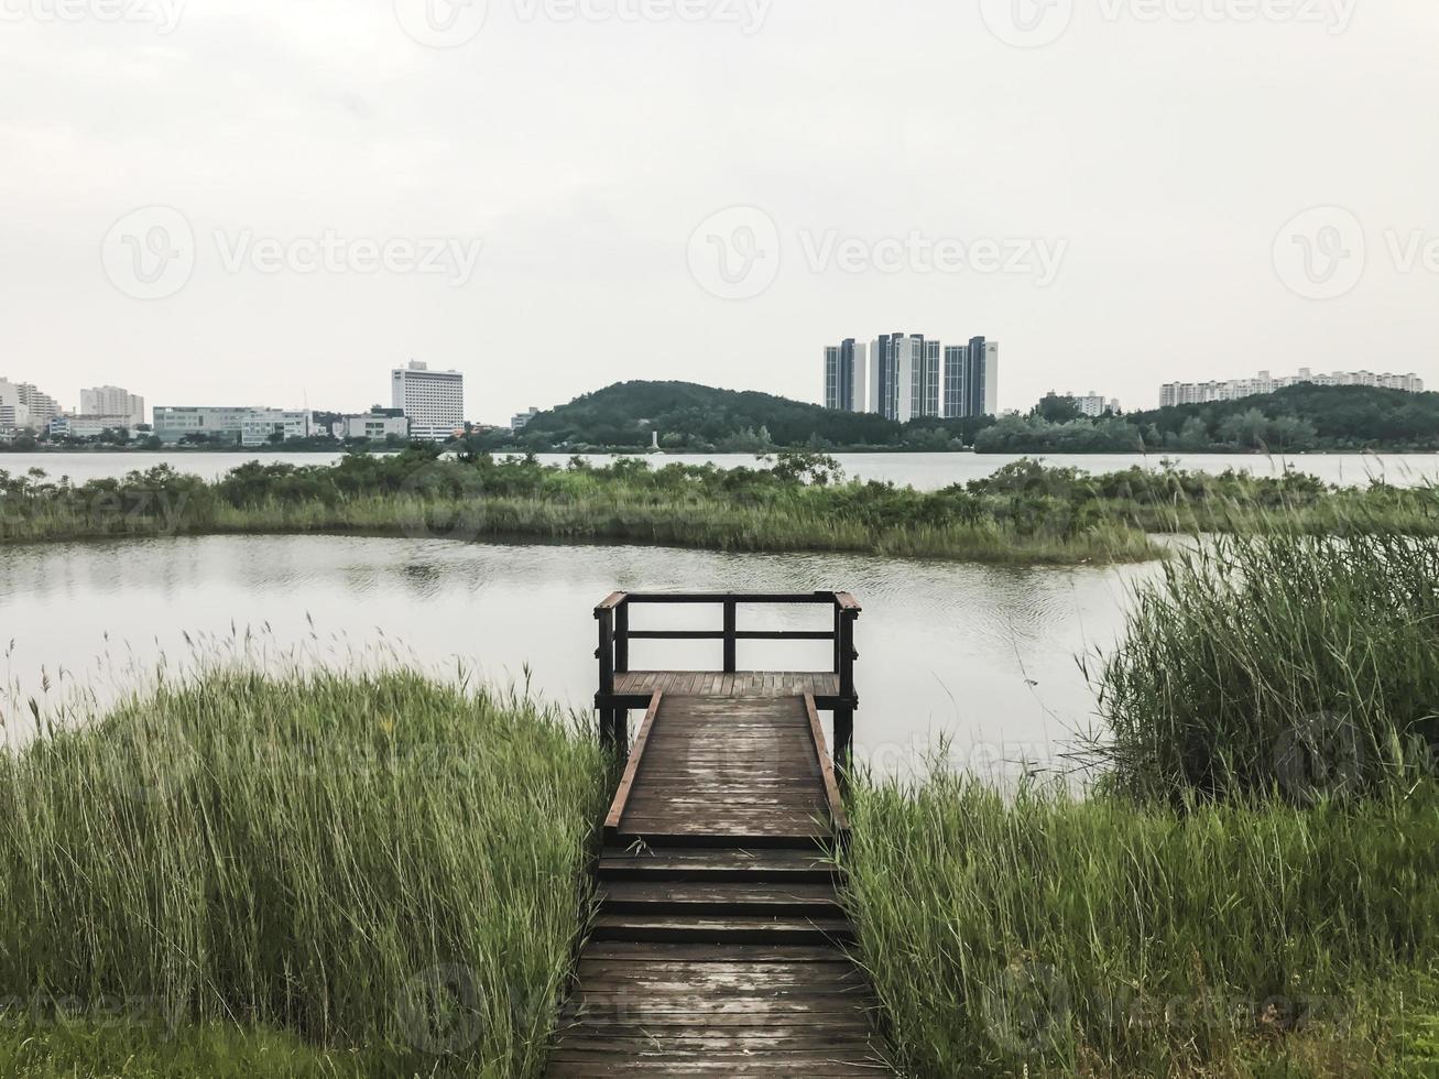
<svg viewBox="0 0 1439 1079"><path fill-rule="evenodd" d="M1153 534L1439 532L1439 491L1331 488L1299 473L1177 469L1089 476L1020 460L921 492L846 481L822 455L721 469L639 459L440 459L413 449L335 465L250 462L207 482L167 466L72 485L0 472L0 541L366 534L836 551L999 564L1160 558Z"/></svg>

